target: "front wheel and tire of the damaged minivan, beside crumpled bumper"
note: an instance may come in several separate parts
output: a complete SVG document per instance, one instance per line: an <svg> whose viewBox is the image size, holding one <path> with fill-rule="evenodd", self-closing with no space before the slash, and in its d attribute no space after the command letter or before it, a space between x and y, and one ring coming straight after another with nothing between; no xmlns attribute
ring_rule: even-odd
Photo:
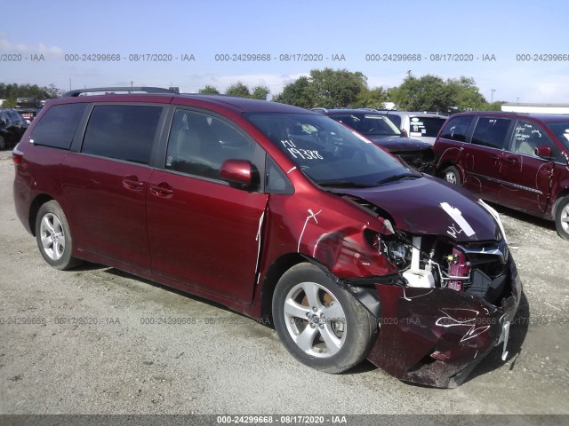
<svg viewBox="0 0 569 426"><path fill-rule="evenodd" d="M310 306L305 288L316 306ZM377 336L373 315L314 264L297 264L284 272L276 284L272 313L286 350L303 364L325 373L341 373L357 366Z"/></svg>

